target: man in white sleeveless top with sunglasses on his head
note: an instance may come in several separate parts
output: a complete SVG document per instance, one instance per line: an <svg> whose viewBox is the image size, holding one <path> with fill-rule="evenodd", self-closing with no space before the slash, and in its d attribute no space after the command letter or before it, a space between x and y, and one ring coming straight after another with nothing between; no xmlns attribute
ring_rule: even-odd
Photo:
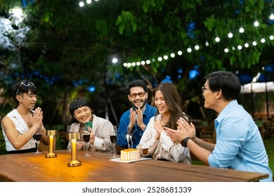
<svg viewBox="0 0 274 196"><path fill-rule="evenodd" d="M41 141L48 145L46 130L43 126L43 111L38 107L37 87L28 80L22 80L13 86L13 99L16 109L9 112L1 121L6 151L8 153L30 153L37 151L34 134L41 129Z"/></svg>

